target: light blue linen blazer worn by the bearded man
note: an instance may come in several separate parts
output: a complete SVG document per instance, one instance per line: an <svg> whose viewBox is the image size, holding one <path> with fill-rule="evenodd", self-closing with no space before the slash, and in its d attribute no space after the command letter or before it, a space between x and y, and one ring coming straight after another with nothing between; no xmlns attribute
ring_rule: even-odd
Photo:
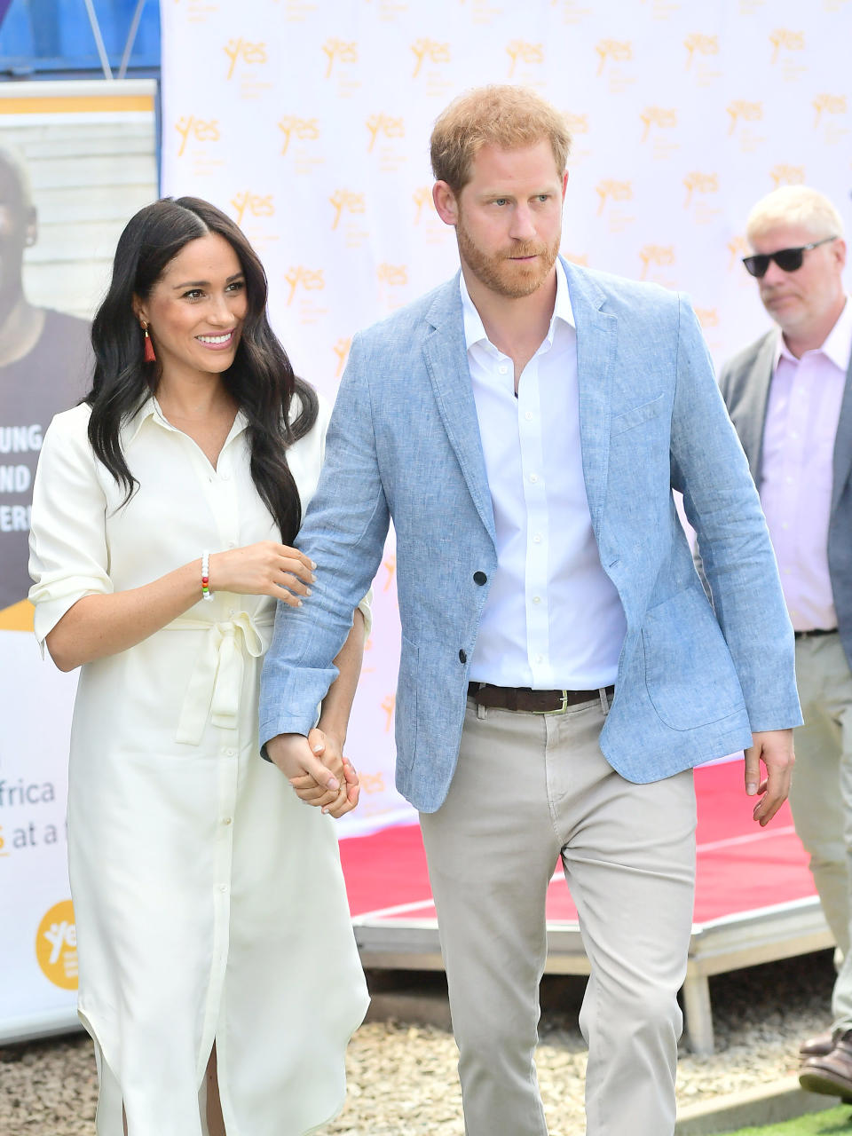
<svg viewBox="0 0 852 1136"><path fill-rule="evenodd" d="M657 780L750 745L752 730L801 721L793 633L758 494L688 303L563 267L588 508L627 621L600 744L625 778ZM673 487L699 533L712 605ZM456 768L468 663L496 569L458 276L352 342L298 541L317 582L303 607L278 604L261 744L314 725L390 520L402 623L396 786L432 812Z"/></svg>

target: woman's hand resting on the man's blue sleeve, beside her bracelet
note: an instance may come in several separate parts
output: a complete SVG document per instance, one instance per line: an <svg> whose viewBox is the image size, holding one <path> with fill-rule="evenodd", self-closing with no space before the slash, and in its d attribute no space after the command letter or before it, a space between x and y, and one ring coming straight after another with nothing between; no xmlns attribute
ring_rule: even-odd
<svg viewBox="0 0 852 1136"><path fill-rule="evenodd" d="M210 591L272 595L291 608L310 595L316 565L303 552L275 541L210 553Z"/></svg>

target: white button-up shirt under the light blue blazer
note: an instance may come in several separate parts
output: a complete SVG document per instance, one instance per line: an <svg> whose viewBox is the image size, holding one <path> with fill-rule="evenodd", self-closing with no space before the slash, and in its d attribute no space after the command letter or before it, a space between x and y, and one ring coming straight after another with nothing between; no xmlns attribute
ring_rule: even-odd
<svg viewBox="0 0 852 1136"><path fill-rule="evenodd" d="M557 261L553 318L517 398L512 360L488 340L463 276L461 302L498 551L470 678L535 690L608 686L626 624L588 512L565 270Z"/></svg>

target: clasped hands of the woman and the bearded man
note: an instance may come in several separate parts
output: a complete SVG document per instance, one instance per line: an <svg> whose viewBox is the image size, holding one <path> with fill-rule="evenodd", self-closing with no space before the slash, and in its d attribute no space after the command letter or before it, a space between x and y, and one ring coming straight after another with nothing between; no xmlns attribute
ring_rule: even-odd
<svg viewBox="0 0 852 1136"><path fill-rule="evenodd" d="M358 804L360 785L342 745L321 729L303 734L278 734L266 752L281 769L295 795L332 817L342 817Z"/></svg>

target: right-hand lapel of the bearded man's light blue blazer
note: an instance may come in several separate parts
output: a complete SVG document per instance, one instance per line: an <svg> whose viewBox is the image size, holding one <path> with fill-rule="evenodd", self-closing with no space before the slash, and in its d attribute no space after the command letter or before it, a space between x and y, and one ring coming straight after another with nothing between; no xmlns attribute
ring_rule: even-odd
<svg viewBox="0 0 852 1136"><path fill-rule="evenodd" d="M618 320L601 311L604 292L567 261L568 294L577 328L577 385L583 476L595 535L600 532L609 465L610 389ZM599 542L600 543L600 542Z"/></svg>

